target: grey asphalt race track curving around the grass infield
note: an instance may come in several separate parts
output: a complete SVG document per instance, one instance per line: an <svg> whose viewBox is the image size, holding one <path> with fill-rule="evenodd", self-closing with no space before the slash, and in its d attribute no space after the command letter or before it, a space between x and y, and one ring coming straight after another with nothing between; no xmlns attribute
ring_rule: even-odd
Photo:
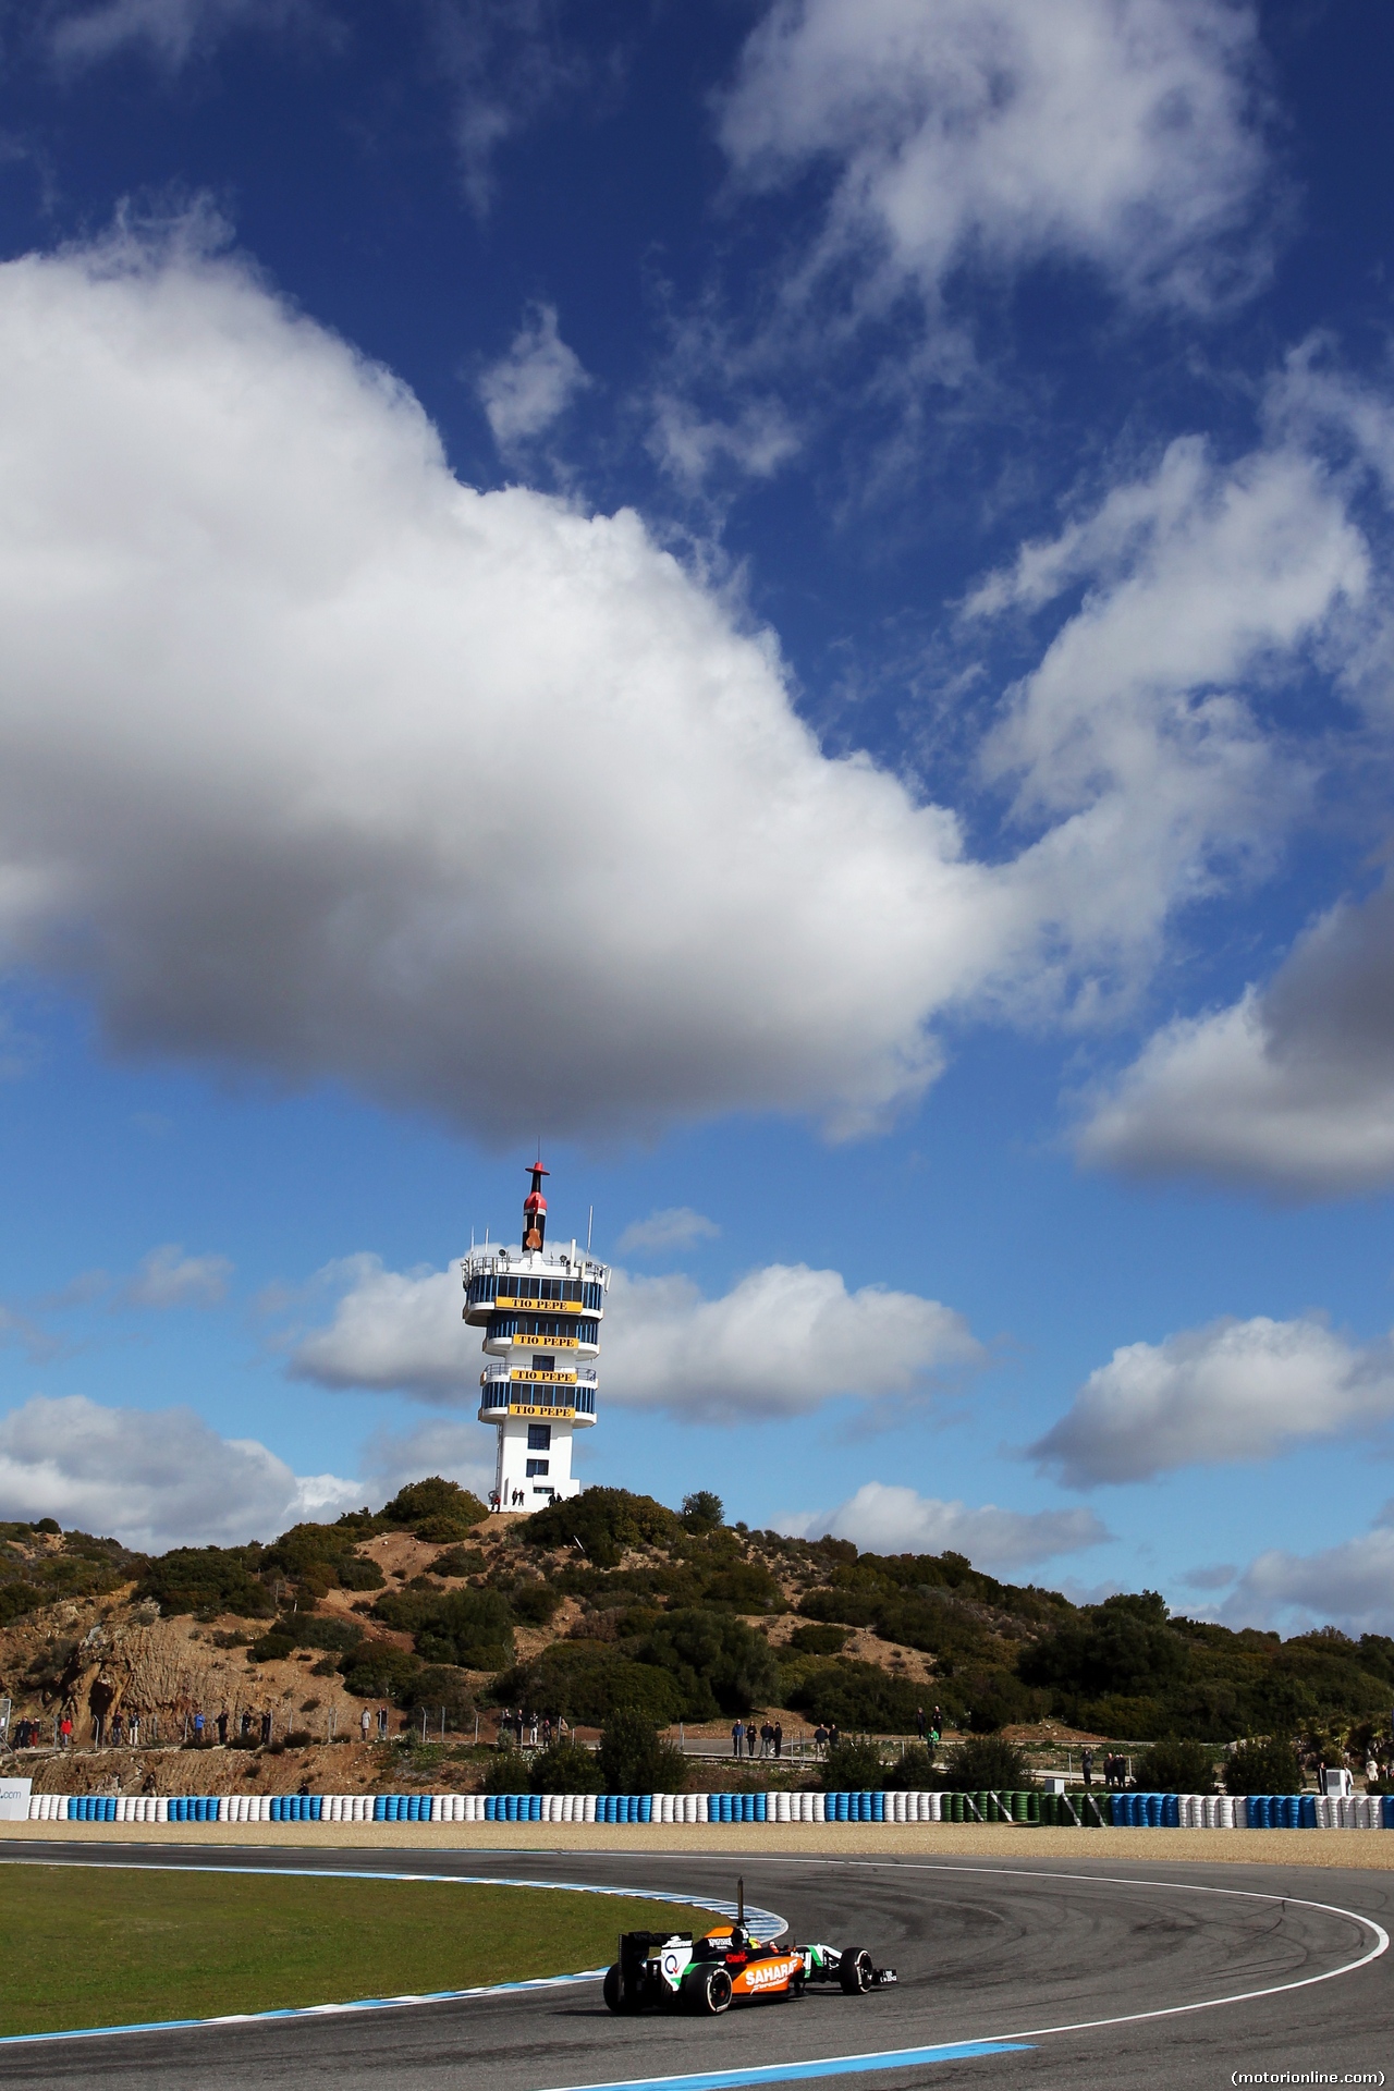
<svg viewBox="0 0 1394 2091"><path fill-rule="evenodd" d="M704 2091L727 2070L761 2070L777 2083L800 2064L796 2081L815 2091L974 2083L984 2091L1210 2091L1235 2072L1384 2083L1394 2064L1394 1951L1365 1959L1394 1930L1388 1871L738 1848L665 1857L6 1840L0 1863L23 1861L470 1874L717 1899L729 1899L744 1874L748 1901L777 1909L796 1938L865 1945L901 1980L869 1997L811 1991L719 2020L610 2018L596 1982L328 2018L0 2043L0 2085L571 2091L688 2078L673 2091ZM895 2062L903 2049L978 2041L1014 2051ZM832 2068L851 2055L872 2066Z"/></svg>

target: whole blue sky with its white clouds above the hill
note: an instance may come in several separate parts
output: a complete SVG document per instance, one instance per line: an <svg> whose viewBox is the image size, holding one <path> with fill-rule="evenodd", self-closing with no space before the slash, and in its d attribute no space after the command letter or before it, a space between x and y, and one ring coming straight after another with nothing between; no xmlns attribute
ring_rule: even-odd
<svg viewBox="0 0 1394 2091"><path fill-rule="evenodd" d="M583 1474L1392 1631L1375 8L0 17L0 1514Z"/></svg>

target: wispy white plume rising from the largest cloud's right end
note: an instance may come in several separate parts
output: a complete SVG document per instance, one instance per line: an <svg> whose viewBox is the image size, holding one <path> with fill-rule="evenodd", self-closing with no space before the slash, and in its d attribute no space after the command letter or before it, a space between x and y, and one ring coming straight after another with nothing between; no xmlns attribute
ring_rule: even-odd
<svg viewBox="0 0 1394 2091"><path fill-rule="evenodd" d="M1367 579L1365 539L1315 460L1221 466L1187 437L974 592L968 627L1085 583L982 749L1016 820L1045 824L1005 876L1053 907L1066 945L1101 960L1116 941L1126 981L1179 901L1271 861L1310 772L1252 694L1290 675Z"/></svg>

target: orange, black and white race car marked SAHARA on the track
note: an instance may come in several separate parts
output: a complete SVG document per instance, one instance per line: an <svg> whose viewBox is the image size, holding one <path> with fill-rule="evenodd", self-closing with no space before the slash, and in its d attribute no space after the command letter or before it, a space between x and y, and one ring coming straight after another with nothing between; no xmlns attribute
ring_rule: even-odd
<svg viewBox="0 0 1394 2091"><path fill-rule="evenodd" d="M809 1982L836 1982L846 1997L895 1982L865 1947L761 1947L744 1924L692 1932L623 1932L604 1978L612 2012L698 2012L715 2018L757 1997L803 1997Z"/></svg>

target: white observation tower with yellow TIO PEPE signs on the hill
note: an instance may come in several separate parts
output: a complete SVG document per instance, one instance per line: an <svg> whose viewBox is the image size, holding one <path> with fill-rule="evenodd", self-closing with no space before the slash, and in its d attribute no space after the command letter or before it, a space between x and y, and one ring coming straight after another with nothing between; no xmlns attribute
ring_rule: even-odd
<svg viewBox="0 0 1394 2091"><path fill-rule="evenodd" d="M541 1161L527 1165L533 1188L522 1200L522 1246L470 1248L464 1271L464 1319L485 1332L479 1420L497 1430L493 1497L497 1510L541 1510L579 1495L571 1474L571 1432L596 1422L596 1357L610 1269L575 1240L548 1250L548 1200ZM493 1363L499 1359L499 1363Z"/></svg>

